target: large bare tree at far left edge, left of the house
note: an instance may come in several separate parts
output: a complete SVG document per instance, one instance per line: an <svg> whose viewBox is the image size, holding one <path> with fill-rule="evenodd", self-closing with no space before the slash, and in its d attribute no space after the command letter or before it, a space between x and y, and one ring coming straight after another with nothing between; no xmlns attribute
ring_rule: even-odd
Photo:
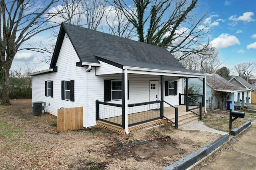
<svg viewBox="0 0 256 170"><path fill-rule="evenodd" d="M23 49L26 41L38 33L55 27L50 23L54 14L47 10L58 0L44 1L42 4L34 0L1 0L0 2L0 57L3 68L2 105L9 105L9 70L15 54ZM16 37L17 36L17 37Z"/></svg>

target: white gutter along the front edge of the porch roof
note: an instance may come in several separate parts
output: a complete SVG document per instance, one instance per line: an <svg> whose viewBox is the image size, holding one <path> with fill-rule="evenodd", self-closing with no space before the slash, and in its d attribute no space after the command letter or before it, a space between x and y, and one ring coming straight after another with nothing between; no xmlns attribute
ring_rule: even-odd
<svg viewBox="0 0 256 170"><path fill-rule="evenodd" d="M130 70L136 70L136 71L146 71L146 72L160 72L160 73L172 73L172 74L180 74L180 75L190 75L190 76L200 76L204 78L204 73L193 73L193 72L182 72L182 71L172 71L172 70L158 70L158 69L152 69L152 68L140 68L140 67L132 67L132 66L123 66L123 69Z"/></svg>

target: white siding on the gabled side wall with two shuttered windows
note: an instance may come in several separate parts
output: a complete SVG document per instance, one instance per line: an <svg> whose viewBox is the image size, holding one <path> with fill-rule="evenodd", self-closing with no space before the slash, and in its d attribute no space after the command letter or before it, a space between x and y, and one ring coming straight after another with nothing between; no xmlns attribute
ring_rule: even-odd
<svg viewBox="0 0 256 170"><path fill-rule="evenodd" d="M39 74L33 76L33 96L32 102L46 102L45 109L47 112L57 116L57 111L61 107L81 107L84 106L84 69L85 67L76 66L76 62L79 62L79 58L76 55L74 48L69 38L64 37L60 55L56 66L58 66L57 72L48 74ZM53 98L46 97L44 95L44 82L47 80L54 81L53 86ZM61 100L61 81L62 80L74 80L74 98L75 102L67 100Z"/></svg>

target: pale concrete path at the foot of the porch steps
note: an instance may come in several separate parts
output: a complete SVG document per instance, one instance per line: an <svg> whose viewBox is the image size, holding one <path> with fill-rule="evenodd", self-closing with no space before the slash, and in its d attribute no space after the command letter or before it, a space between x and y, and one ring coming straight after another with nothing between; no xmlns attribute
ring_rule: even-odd
<svg viewBox="0 0 256 170"><path fill-rule="evenodd" d="M217 133L217 134L220 134L220 135L228 134L227 132L218 131L218 130L212 129L210 127L207 127L206 125L204 125L204 122L202 122L202 121L197 121L195 123L185 125L185 126L181 127L181 129L207 131L207 132L211 132L211 133Z"/></svg>

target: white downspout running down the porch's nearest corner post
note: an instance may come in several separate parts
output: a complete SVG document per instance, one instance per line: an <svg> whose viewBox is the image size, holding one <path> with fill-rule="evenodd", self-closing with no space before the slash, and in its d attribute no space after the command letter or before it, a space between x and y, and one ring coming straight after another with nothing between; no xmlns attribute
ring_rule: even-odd
<svg viewBox="0 0 256 170"><path fill-rule="evenodd" d="M124 69L124 130L127 135L130 134L128 131L128 70Z"/></svg>

